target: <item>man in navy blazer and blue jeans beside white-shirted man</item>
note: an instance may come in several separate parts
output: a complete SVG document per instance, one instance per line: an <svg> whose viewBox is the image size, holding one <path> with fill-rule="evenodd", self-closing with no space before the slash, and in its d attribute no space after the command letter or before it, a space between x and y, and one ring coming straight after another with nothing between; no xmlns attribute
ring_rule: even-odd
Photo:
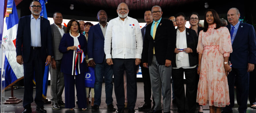
<svg viewBox="0 0 256 113"><path fill-rule="evenodd" d="M112 65L106 63L106 55L104 53L104 37L107 29L107 13L104 10L100 10L97 14L99 23L90 27L88 32L88 58L89 65L95 68L95 83L94 83L94 105L91 111L99 109L101 103L101 91L103 77L105 81L106 92L106 104L108 110L116 111L113 104L112 92L113 92L113 70Z"/></svg>

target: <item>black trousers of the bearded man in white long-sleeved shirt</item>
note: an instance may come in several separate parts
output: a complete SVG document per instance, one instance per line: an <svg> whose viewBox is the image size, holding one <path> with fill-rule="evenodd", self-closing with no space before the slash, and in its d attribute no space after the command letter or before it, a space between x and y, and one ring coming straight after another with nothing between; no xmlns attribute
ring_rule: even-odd
<svg viewBox="0 0 256 113"><path fill-rule="evenodd" d="M135 108L137 99L137 70L135 59L113 58L114 90L116 95L116 106L118 109L125 107L125 90L124 90L124 71L126 71L127 80L127 101L129 109Z"/></svg>

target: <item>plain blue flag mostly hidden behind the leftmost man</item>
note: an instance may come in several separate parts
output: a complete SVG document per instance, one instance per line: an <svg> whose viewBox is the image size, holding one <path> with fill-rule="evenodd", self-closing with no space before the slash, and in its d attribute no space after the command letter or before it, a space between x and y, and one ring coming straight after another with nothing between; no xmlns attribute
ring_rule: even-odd
<svg viewBox="0 0 256 113"><path fill-rule="evenodd" d="M45 4L47 3L48 0L38 0L41 3L42 6L42 11L40 13L41 17L47 18L47 13L46 13L46 7ZM48 77L49 77L49 65L45 66L45 71L43 75L43 98L46 99L46 94L47 94L47 88L48 88ZM34 77L34 84L35 84L35 77Z"/></svg>

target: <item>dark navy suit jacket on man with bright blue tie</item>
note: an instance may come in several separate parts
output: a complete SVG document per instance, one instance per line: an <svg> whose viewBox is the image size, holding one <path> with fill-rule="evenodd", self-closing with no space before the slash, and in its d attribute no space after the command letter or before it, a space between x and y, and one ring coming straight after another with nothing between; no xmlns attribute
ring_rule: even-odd
<svg viewBox="0 0 256 113"><path fill-rule="evenodd" d="M230 25L227 25L230 31ZM233 41L230 62L233 68L247 68L248 63L256 63L256 35L252 25L240 22Z"/></svg>

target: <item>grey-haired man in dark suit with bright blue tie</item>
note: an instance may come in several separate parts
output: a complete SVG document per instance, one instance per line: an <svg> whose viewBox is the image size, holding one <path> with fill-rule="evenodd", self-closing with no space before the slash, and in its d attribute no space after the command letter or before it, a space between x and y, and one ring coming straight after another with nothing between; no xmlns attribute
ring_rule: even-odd
<svg viewBox="0 0 256 113"><path fill-rule="evenodd" d="M254 70L256 63L255 31L252 25L239 21L240 13L237 8L228 11L227 25L230 30L233 52L230 53L232 71L228 75L230 105L223 108L223 112L232 112L234 107L234 80L236 80L236 100L239 113L247 110L249 94L249 72Z"/></svg>

